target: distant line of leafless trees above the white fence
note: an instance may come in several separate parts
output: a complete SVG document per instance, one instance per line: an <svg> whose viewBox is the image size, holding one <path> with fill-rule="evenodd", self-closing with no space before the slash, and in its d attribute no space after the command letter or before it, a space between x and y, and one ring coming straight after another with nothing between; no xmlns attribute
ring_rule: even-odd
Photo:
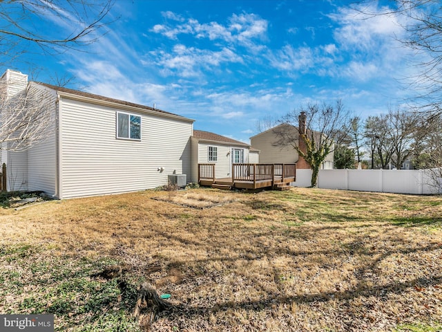
<svg viewBox="0 0 442 332"><path fill-rule="evenodd" d="M354 117L347 137L334 150L336 168L428 169L441 167L442 120L422 113L388 109L365 120Z"/></svg>

